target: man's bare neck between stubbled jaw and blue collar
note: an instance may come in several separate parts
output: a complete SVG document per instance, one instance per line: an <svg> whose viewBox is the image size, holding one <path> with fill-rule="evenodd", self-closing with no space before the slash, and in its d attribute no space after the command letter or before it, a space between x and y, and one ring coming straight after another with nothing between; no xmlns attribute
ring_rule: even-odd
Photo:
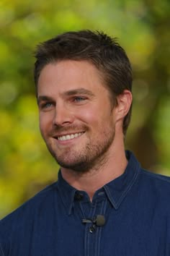
<svg viewBox="0 0 170 256"><path fill-rule="evenodd" d="M121 145L116 145L110 151L107 161L102 166L94 167L85 173L61 167L63 179L72 187L85 191L92 200L97 189L122 175L128 165L123 140Z"/></svg>

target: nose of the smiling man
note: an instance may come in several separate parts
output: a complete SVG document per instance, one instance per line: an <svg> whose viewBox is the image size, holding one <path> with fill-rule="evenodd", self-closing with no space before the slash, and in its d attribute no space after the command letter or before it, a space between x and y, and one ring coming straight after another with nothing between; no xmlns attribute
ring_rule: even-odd
<svg viewBox="0 0 170 256"><path fill-rule="evenodd" d="M73 112L68 107L57 104L53 116L53 125L66 126L73 123Z"/></svg>

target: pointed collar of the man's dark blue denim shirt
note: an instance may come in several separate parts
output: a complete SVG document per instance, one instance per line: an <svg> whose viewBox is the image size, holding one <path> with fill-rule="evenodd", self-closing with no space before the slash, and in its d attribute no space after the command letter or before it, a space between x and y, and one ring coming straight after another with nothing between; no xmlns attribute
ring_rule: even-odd
<svg viewBox="0 0 170 256"><path fill-rule="evenodd" d="M128 166L126 167L125 172L121 176L112 180L112 182L105 184L102 188L106 192L108 200L115 209L120 206L120 203L128 194L128 191L130 191L140 171L140 163L138 163L133 153L126 151L126 157L128 159ZM68 215L70 215L76 193L83 193L85 195L86 192L80 192L74 187L71 187L71 185L63 179L61 171L58 172L57 184L61 200L68 211ZM97 195L97 192L95 195Z"/></svg>

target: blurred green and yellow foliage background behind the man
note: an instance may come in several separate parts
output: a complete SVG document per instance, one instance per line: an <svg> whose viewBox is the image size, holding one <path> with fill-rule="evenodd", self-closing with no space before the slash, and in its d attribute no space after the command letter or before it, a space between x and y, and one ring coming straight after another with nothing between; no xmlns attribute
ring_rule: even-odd
<svg viewBox="0 0 170 256"><path fill-rule="evenodd" d="M170 1L0 1L0 218L57 179L38 127L33 51L68 30L119 38L133 65L126 148L144 168L170 175Z"/></svg>

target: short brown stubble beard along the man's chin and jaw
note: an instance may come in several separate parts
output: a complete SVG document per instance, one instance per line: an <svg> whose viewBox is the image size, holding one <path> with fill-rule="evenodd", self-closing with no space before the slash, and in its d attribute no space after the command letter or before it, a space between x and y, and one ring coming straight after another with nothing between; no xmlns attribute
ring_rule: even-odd
<svg viewBox="0 0 170 256"><path fill-rule="evenodd" d="M115 129L103 133L102 142L96 141L87 143L84 148L74 150L66 148L61 155L53 150L53 147L48 146L48 150L55 158L55 161L63 167L73 170L77 173L86 173L90 170L97 170L104 166L109 158L109 148L115 139Z"/></svg>

